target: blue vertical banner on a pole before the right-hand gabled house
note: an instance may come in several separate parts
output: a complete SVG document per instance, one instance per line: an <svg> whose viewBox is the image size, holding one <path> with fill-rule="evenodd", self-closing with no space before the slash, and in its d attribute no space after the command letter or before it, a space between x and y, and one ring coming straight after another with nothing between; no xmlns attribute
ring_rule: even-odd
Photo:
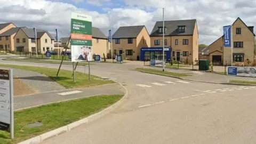
<svg viewBox="0 0 256 144"><path fill-rule="evenodd" d="M231 48L231 66L233 66L232 26L224 26L223 27L223 35L224 35L224 47L230 47Z"/></svg>

